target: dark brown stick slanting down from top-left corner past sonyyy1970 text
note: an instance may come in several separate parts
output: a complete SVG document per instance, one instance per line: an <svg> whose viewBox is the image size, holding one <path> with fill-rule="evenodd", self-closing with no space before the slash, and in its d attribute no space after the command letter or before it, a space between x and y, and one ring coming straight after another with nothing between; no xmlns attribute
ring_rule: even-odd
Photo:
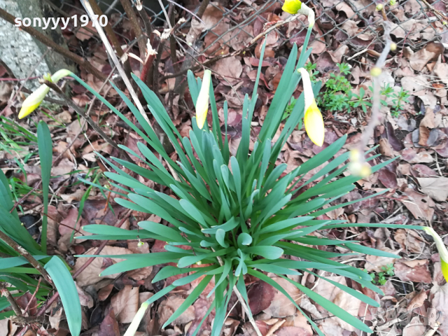
<svg viewBox="0 0 448 336"><path fill-rule="evenodd" d="M3 18L4 20L15 25L15 16L10 15L10 13L6 12L6 10L3 10L2 8L0 8L0 18ZM53 50L55 50L57 53L61 54L62 56L67 57L68 59L71 59L73 62L79 64L80 66L85 68L87 71L92 73L92 75L94 75L95 77L97 77L101 80L106 79L106 76L101 71L99 71L97 68L92 66L92 64L90 64L90 62L88 62L86 59L83 59L83 57L80 57L79 55L76 55L75 53L71 52L70 50L55 43L50 38L48 38L48 36L45 36L41 32L34 29L33 27L31 27L31 26L25 27L22 25L22 27L20 29L22 29L23 31L26 31L28 34L30 34L31 36L36 38L38 41L41 41L43 44L52 48Z"/></svg>

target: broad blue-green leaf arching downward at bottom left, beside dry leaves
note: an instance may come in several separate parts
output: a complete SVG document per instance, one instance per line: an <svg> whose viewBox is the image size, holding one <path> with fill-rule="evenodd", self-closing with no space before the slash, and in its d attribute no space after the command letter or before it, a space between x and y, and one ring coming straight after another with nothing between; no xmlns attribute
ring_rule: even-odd
<svg viewBox="0 0 448 336"><path fill-rule="evenodd" d="M82 323L81 304L78 290L76 290L75 283L71 279L71 274L64 262L56 256L47 262L45 269L50 274L59 293L59 297L61 297L71 335L78 336Z"/></svg>

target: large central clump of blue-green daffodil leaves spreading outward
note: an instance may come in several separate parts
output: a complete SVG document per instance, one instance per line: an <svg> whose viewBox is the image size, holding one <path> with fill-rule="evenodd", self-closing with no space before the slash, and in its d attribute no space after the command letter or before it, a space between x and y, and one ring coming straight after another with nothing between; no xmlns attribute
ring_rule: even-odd
<svg viewBox="0 0 448 336"><path fill-rule="evenodd" d="M264 46L262 55L263 52ZM182 286L196 279L200 279L197 287L193 289L185 302L170 316L162 328L167 327L178 318L202 294L207 295L207 297L214 297L206 317L215 309L216 316L211 335L220 335L232 290L241 293L241 300L248 306L244 283L245 275L251 275L274 286L286 295L297 309L302 311L293 297L290 297L286 290L267 276L267 273L271 272L292 283L293 286L308 295L311 300L328 309L335 316L342 318L342 320L360 330L372 332L357 317L289 277L304 272L313 274L323 281L328 281L341 288L353 297L378 307L375 300L363 295L363 293L332 281L325 276L318 275L318 271L321 270L339 274L374 290L376 293L381 293L379 288L373 286L372 278L361 269L335 261L336 257L351 255L352 253L323 251L312 246L341 246L355 253L370 253L393 258L396 258L396 255L365 247L360 245L358 241L315 237L313 232L347 226L404 227L403 225L350 224L346 221L316 219L328 211L367 200L386 191L369 195L361 200L332 205L333 201L353 190L355 188L353 183L360 179L359 176L351 175L339 178L346 171L347 165L344 162L348 159L349 153L343 153L336 157L335 155L344 145L346 136L324 148L323 151L304 162L300 167L287 170L288 166L285 163L276 164L281 148L286 144L288 137L304 116L304 96L302 94L294 102L292 111L282 127L278 140L272 142L281 124L286 106L290 102L290 97L300 81L300 73L297 69L304 66L309 52L310 50L307 50L301 55L297 63L297 45L293 46L281 76L279 87L272 99L272 104L269 106L265 122L253 145L253 151L249 151L251 120L257 101L256 92L261 66L258 68L252 97L249 98L248 94L244 97L241 142L234 153L231 153L228 143L228 106L224 104L223 107L225 122L224 134L221 134L221 125L212 86L209 91L212 114L211 129L206 123L204 129L200 130L195 118L193 118L193 130L190 131L189 137L181 137L157 95L149 90L137 76L134 76L134 80L139 85L148 103L148 108L176 149L176 161L172 160L172 155L170 156L165 151L151 125L146 122L137 108L118 87L114 86L143 130L134 125L131 120L127 119L109 102L102 99L104 104L146 141L146 144L143 142L137 144L142 155L138 155L130 148L122 146L125 151L137 156L144 162L146 167L119 158L109 160L97 153L113 170L113 172L105 172L104 174L112 180L111 185L116 188L115 193L120 196L115 199L116 202L134 211L160 216L168 225L141 221L138 223L139 230L124 230L109 225L86 225L83 229L94 235L78 237L78 239L158 239L166 242L166 251L163 252L109 255L111 258L121 258L124 261L105 269L100 274L102 276L151 265L162 265L167 262L176 262L176 266L163 267L156 274L153 282L177 274L186 275L176 279L171 285L155 293L146 301L141 308L143 312L139 311L130 330L137 330L139 319L143 316L148 304L167 295L177 286ZM262 63L260 62L260 64ZM87 84L82 84L88 90L94 92ZM188 73L188 85L193 102L196 102L202 87L202 80L195 78L190 71ZM314 83L314 94L318 92L320 85L321 83ZM97 95L96 92L94 94ZM366 160L370 161L378 156L373 155ZM165 162L162 163L160 158ZM393 160L372 167L372 172L377 172ZM308 172L324 162L327 162L325 167L318 170L309 179L304 180L304 176ZM171 195L149 188L118 165L129 169L128 172L132 171L144 179L155 181L155 183L169 188ZM288 173L285 174L285 172ZM110 191L96 183L83 181L97 186L97 188ZM299 182L301 184L296 188ZM300 228L297 228L297 225L300 225ZM416 227L412 226L412 228ZM85 258L91 255L77 256ZM291 259L290 256L294 256L295 260ZM195 267L192 267L193 265ZM197 267L198 265L200 267ZM206 288L209 288L209 290L203 293ZM303 311L302 313L307 317L316 332L323 335L314 321ZM200 330L199 328L200 326L192 335L196 335ZM132 334L133 331L128 331L126 335Z"/></svg>

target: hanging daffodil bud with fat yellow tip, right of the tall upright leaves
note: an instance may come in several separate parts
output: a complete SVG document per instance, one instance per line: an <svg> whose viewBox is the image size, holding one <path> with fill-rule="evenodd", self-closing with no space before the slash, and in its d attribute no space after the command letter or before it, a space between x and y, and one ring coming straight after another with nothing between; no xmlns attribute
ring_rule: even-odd
<svg viewBox="0 0 448 336"><path fill-rule="evenodd" d="M314 99L313 88L311 87L308 71L304 68L300 68L297 71L302 75L303 94L305 97L305 115L303 118L305 130L307 131L309 139L320 147L323 145L323 138L325 137L322 114Z"/></svg>

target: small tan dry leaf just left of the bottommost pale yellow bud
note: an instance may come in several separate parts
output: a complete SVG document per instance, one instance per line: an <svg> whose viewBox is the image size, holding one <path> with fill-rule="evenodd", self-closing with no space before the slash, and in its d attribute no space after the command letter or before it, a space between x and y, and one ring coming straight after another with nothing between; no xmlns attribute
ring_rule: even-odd
<svg viewBox="0 0 448 336"><path fill-rule="evenodd" d="M111 299L117 321L131 323L139 310L139 287L125 286Z"/></svg>

